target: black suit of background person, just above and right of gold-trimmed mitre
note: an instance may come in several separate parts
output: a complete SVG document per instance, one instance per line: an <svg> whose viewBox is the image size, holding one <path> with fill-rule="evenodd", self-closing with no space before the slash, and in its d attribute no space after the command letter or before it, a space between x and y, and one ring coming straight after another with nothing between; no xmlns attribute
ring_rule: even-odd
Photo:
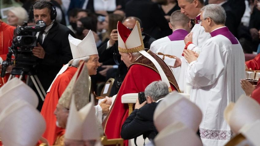
<svg viewBox="0 0 260 146"><path fill-rule="evenodd" d="M135 16L141 19L143 32L159 39L172 33L164 13L158 4L149 0L130 0L125 5L126 17Z"/></svg>

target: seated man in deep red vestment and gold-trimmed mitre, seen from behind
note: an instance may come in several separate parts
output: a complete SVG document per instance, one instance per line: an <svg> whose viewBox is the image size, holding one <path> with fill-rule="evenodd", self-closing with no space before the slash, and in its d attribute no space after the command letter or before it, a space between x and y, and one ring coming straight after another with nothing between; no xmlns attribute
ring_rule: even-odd
<svg viewBox="0 0 260 146"><path fill-rule="evenodd" d="M128 105L121 103L121 96L127 93L143 92L147 85L156 80L168 84L169 92L178 90L178 84L171 69L151 51L144 51L139 22L132 32L121 22L117 24L118 50L121 60L128 66L128 73L117 97L103 122L108 139L120 138L121 127L128 117ZM139 53L139 56L138 56ZM128 145L128 140L124 140Z"/></svg>

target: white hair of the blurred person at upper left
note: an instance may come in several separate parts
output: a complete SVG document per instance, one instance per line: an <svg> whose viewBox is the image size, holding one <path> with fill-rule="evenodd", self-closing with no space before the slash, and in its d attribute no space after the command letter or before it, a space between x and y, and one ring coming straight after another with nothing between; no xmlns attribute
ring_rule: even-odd
<svg viewBox="0 0 260 146"><path fill-rule="evenodd" d="M29 20L29 15L23 7L14 7L9 9L8 12L12 12L18 18L18 25L22 25L24 21Z"/></svg>

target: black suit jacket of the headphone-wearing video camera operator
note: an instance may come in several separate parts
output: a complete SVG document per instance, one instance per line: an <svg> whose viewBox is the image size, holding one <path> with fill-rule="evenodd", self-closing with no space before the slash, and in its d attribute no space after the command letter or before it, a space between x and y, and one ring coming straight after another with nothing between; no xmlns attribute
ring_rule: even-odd
<svg viewBox="0 0 260 146"><path fill-rule="evenodd" d="M45 51L43 59L38 59L36 75L39 77L45 91L48 90L55 76L64 64L72 59L68 36L74 33L66 26L54 22L42 47Z"/></svg>

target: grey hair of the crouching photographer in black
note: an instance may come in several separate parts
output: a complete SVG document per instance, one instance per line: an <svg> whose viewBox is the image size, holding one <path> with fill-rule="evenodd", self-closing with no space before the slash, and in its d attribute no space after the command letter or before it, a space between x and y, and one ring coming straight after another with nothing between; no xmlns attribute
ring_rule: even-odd
<svg viewBox="0 0 260 146"><path fill-rule="evenodd" d="M145 97L150 96L154 101L169 94L168 86L163 81L154 81L144 89Z"/></svg>

